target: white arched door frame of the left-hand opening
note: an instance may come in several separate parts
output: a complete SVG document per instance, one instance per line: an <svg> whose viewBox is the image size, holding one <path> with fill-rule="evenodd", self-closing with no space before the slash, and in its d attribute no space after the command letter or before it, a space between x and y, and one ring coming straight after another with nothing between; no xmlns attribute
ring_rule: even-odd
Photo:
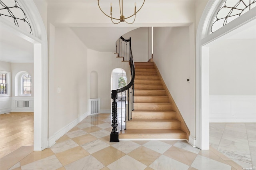
<svg viewBox="0 0 256 170"><path fill-rule="evenodd" d="M34 44L34 150L47 148L48 141L48 59L47 34L44 23L33 1L19 1L30 20L33 35L1 17L1 29Z"/></svg>

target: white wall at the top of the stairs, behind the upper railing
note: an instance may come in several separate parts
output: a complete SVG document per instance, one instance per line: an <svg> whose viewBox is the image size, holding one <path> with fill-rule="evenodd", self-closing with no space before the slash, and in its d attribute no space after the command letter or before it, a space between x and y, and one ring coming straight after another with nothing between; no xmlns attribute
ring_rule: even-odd
<svg viewBox="0 0 256 170"><path fill-rule="evenodd" d="M134 62L147 62L151 56L151 53L148 53L148 32L148 27L140 27L122 36L125 39L131 38Z"/></svg>

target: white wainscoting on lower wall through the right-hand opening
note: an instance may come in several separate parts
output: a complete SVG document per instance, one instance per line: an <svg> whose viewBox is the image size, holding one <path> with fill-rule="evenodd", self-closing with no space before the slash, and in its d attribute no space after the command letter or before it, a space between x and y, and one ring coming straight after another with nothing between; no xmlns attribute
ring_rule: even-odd
<svg viewBox="0 0 256 170"><path fill-rule="evenodd" d="M210 123L256 122L256 96L210 96Z"/></svg>

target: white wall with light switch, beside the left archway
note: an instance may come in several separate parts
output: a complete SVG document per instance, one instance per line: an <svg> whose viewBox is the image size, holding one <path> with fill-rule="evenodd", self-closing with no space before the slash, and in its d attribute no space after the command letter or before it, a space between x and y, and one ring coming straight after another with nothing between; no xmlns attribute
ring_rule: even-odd
<svg viewBox="0 0 256 170"><path fill-rule="evenodd" d="M63 128L87 114L88 75L87 47L72 30L51 26L50 35L48 135L52 140Z"/></svg>

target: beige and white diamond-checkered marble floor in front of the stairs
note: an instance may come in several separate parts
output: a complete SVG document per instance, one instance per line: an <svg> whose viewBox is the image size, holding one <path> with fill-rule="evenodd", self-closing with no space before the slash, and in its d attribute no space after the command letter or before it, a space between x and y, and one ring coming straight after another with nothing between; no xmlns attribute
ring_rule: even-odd
<svg viewBox="0 0 256 170"><path fill-rule="evenodd" d="M236 162L213 147L199 150L184 140L109 142L110 114L86 117L43 151L12 152L1 170L235 170ZM31 149L31 148L30 148ZM11 158L11 159L10 159Z"/></svg>

